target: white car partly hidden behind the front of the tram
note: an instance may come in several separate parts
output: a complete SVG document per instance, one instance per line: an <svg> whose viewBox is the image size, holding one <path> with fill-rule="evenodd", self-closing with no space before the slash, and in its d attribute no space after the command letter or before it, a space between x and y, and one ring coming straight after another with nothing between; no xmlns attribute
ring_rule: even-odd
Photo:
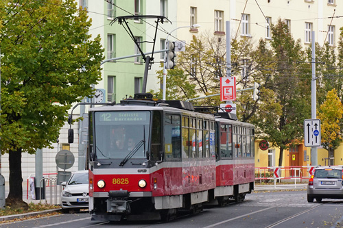
<svg viewBox="0 0 343 228"><path fill-rule="evenodd" d="M61 192L61 206L64 213L88 208L88 170L73 173L69 181L62 182L61 185L64 186Z"/></svg>

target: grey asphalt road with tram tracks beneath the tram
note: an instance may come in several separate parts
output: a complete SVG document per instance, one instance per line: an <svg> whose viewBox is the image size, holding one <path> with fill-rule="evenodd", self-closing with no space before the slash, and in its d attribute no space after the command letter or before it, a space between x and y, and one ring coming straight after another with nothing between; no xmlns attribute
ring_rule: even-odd
<svg viewBox="0 0 343 228"><path fill-rule="evenodd" d="M342 225L341 225L342 224ZM168 223L91 221L87 212L1 224L0 227L343 227L343 201L307 203L306 191L255 192L243 203L205 207L200 214L180 214Z"/></svg>

